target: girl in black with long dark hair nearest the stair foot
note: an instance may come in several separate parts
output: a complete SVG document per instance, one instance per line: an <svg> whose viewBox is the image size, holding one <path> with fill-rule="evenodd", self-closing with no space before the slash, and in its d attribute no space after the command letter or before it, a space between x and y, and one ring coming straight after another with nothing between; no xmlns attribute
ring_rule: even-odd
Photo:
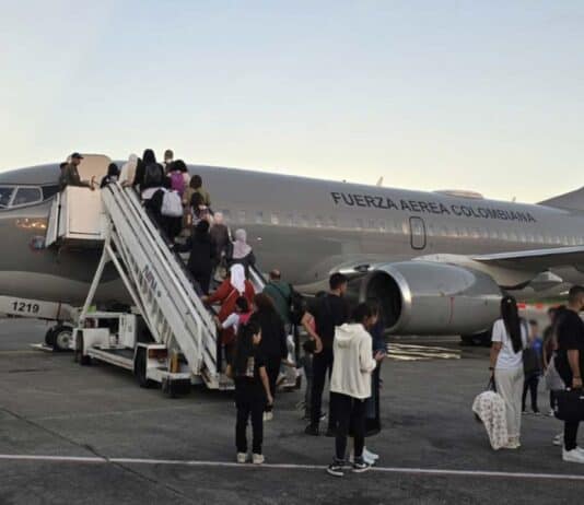
<svg viewBox="0 0 584 505"><path fill-rule="evenodd" d="M266 364L258 352L261 342L261 329L255 321L240 328L235 342L233 365L230 375L235 383L235 406L237 421L235 424L235 444L237 446L237 462L247 461L247 421L252 418L253 430L253 462L261 465L265 461L261 451L264 438L264 409L266 403L271 406L273 399L270 392Z"/></svg>

